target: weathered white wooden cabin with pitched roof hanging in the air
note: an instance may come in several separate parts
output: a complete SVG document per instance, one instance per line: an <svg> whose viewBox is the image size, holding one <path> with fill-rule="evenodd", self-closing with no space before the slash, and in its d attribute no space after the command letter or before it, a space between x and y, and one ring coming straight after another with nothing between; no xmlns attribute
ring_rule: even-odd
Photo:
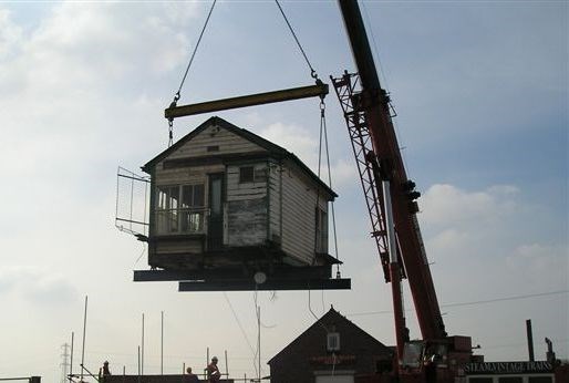
<svg viewBox="0 0 569 383"><path fill-rule="evenodd" d="M142 169L152 190L148 265L167 278L252 280L261 271L275 280L299 270L329 278L338 262L328 251L337 194L292 153L249 131L210 117Z"/></svg>

